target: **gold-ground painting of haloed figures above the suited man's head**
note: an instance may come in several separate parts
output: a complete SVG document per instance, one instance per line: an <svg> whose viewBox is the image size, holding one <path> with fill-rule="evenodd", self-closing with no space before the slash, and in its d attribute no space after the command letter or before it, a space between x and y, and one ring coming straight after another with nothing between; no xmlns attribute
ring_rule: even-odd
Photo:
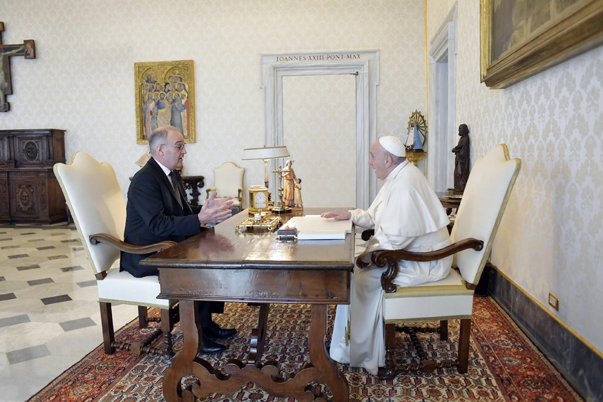
<svg viewBox="0 0 603 402"><path fill-rule="evenodd" d="M135 63L134 77L137 144L148 143L161 126L174 126L184 142L195 142L193 60Z"/></svg>

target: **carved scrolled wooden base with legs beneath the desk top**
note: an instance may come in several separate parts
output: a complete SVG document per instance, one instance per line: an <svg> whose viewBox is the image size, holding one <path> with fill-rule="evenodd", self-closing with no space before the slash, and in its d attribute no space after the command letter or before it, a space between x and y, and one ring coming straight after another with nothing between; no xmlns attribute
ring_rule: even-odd
<svg viewBox="0 0 603 402"><path fill-rule="evenodd" d="M197 356L202 338L196 303L191 300L180 300L181 318L194 314L195 323L181 319L184 334L184 347L173 358L173 363L166 371L163 381L163 392L166 401L194 401L220 392L226 396L235 394L247 383L253 382L271 396L294 397L298 401L327 401L327 393L323 387L316 392L312 383L327 385L336 395L337 401L347 401L349 390L343 373L337 370L335 361L327 355L324 343L327 333L328 305L312 305L312 318L308 334L310 361L291 375L279 373L277 361L259 363L265 344L265 330L268 317L268 304L260 305L258 328L253 329L249 360L243 363L238 359L230 359L224 365L224 373L215 370L207 361ZM257 345L254 347L254 345ZM195 376L197 381L188 387L182 387L184 376Z"/></svg>

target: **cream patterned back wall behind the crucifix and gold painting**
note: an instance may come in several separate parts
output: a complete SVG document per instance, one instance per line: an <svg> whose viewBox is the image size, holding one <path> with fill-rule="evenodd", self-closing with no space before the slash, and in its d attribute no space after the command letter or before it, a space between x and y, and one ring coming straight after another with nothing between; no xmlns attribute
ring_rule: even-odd
<svg viewBox="0 0 603 402"><path fill-rule="evenodd" d="M1 0L0 18L4 43L35 39L37 48L35 60L12 60L1 128L64 128L67 157L83 150L110 162L124 189L146 151L136 144L135 62L195 62L197 142L184 173L204 175L206 186L227 160L247 168L245 187L263 182L261 161L240 160L265 142L261 53L379 49L379 133L398 135L425 108L422 0ZM315 147L318 157L355 159ZM293 157L304 191L329 181ZM348 185L331 180L329 189Z"/></svg>

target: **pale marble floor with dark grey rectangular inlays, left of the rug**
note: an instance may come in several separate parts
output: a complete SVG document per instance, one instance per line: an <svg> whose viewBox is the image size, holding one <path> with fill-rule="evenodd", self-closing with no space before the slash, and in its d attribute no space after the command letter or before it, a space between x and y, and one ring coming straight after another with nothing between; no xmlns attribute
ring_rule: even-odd
<svg viewBox="0 0 603 402"><path fill-rule="evenodd" d="M96 279L68 225L0 227L0 267L0 401L25 401L102 344Z"/></svg>

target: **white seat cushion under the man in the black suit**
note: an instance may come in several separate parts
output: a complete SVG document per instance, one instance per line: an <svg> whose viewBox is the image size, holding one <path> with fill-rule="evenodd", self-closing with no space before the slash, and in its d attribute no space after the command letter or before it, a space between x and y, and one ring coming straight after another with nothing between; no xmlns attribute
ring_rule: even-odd
<svg viewBox="0 0 603 402"><path fill-rule="evenodd" d="M156 298L160 293L159 278L144 276L135 278L119 268L109 269L103 280L97 280L99 301L160 307L166 309L170 300Z"/></svg>

